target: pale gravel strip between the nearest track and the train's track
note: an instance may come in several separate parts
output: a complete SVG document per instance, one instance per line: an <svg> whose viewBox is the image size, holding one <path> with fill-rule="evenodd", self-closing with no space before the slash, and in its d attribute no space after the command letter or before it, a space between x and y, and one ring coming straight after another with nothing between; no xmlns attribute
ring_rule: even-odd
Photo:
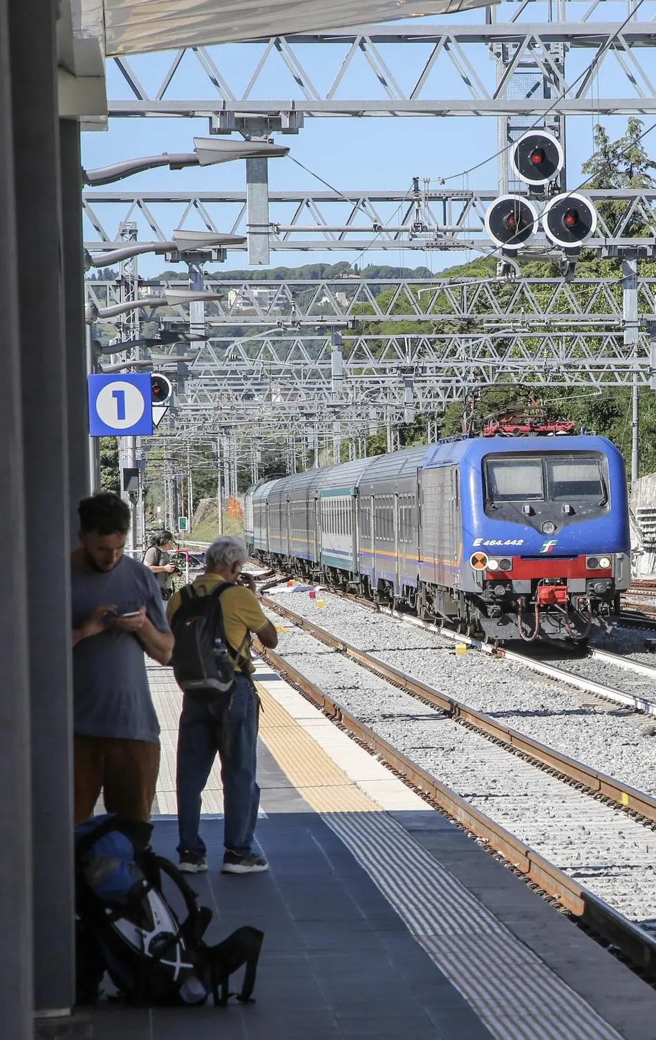
<svg viewBox="0 0 656 1040"><path fill-rule="evenodd" d="M303 587L296 587L301 589ZM271 595L269 593L269 595ZM453 642L415 625L376 614L348 600L317 593L275 590L272 599L327 631L367 650L441 693L556 748L586 765L656 796L656 720L613 705L554 680L542 679L520 665L469 650L456 656ZM317 606L317 601L323 607ZM277 624L280 616L271 615ZM644 643L644 639L642 639ZM618 650L608 646L607 649ZM654 656L647 662L654 664ZM559 667L594 666L598 681L613 685L594 660L554 661ZM612 668L613 673L621 670ZM585 674L589 674L585 671ZM603 677L602 677L603 675ZM631 691L634 676L622 672ZM330 693L330 690L327 691ZM653 695L656 699L656 690Z"/></svg>

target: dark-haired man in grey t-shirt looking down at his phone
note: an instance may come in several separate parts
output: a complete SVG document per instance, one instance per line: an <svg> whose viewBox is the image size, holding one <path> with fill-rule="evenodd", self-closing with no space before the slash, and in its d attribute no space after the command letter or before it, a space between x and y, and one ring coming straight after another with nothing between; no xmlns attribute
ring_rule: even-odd
<svg viewBox="0 0 656 1040"><path fill-rule="evenodd" d="M71 554L75 824L103 791L108 812L150 818L159 772L159 725L145 653L167 665L174 640L159 586L124 555L130 511L116 495L80 502Z"/></svg>

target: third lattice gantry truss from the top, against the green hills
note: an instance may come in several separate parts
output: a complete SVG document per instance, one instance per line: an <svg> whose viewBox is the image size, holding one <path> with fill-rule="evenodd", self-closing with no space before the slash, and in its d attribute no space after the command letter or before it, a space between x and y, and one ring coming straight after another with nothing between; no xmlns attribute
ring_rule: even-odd
<svg viewBox="0 0 656 1040"><path fill-rule="evenodd" d="M153 281L142 292L160 295L176 281ZM98 307L121 302L116 282L89 281L87 292ZM520 322L527 329L563 324L595 328L603 323L621 328L622 283L620 279L577 278L526 279L503 283L497 278L361 279L347 275L334 279L271 279L264 281L208 277L205 288L224 298L205 305L205 320L212 339L238 343L221 337L220 327L290 327L293 322L329 330L332 322L357 318L362 322L445 322L472 321L509 327ZM638 280L638 313L656 312L656 278ZM143 295L145 312L149 310ZM176 317L164 321L188 320L188 308L178 307Z"/></svg>

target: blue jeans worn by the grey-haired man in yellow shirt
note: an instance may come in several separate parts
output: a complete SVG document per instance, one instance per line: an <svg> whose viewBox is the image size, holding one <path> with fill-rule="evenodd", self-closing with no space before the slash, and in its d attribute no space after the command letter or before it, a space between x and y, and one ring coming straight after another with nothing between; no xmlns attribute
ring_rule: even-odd
<svg viewBox="0 0 656 1040"><path fill-rule="evenodd" d="M239 856L252 852L260 805L260 788L255 782L258 711L253 684L237 674L230 706L230 755L221 757L221 783L224 844ZM178 732L178 852L205 855L205 842L199 834L201 796L219 743L219 723L204 704L185 697Z"/></svg>

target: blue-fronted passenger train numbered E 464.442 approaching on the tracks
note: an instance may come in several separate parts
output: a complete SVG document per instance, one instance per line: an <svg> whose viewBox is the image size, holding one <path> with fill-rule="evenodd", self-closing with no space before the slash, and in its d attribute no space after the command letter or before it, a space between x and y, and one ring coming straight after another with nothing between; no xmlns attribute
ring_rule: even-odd
<svg viewBox="0 0 656 1040"><path fill-rule="evenodd" d="M624 460L606 438L445 438L261 483L251 554L489 642L585 643L631 581ZM515 431L517 432L517 431Z"/></svg>

